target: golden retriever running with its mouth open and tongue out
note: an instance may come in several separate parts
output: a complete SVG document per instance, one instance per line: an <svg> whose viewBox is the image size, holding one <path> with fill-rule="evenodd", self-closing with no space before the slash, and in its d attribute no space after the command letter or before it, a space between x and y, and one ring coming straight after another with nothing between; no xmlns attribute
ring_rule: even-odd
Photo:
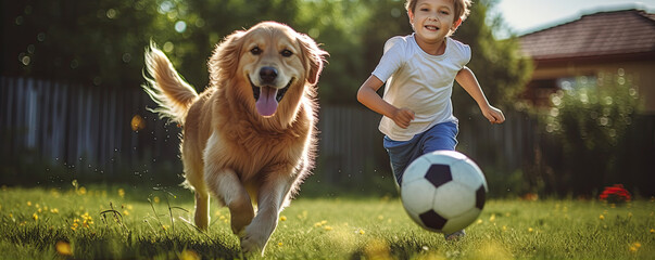
<svg viewBox="0 0 655 260"><path fill-rule="evenodd" d="M287 25L263 22L217 44L199 95L151 44L146 92L182 126L186 184L206 231L210 193L231 216L243 252L263 255L279 212L308 174L315 151L316 82L327 52ZM256 213L253 208L256 204Z"/></svg>

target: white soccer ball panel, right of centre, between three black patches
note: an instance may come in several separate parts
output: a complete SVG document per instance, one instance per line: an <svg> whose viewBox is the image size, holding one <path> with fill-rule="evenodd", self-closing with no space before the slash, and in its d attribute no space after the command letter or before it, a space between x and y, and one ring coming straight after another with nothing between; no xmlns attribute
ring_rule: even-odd
<svg viewBox="0 0 655 260"><path fill-rule="evenodd" d="M476 191L457 182L445 183L434 196L434 211L445 219L459 216L476 206Z"/></svg>

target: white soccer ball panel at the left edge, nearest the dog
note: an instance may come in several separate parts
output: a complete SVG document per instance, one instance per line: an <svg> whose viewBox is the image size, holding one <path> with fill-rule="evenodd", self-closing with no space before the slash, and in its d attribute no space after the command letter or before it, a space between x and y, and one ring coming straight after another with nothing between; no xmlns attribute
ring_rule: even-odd
<svg viewBox="0 0 655 260"><path fill-rule="evenodd" d="M403 182L401 200L412 218L416 219L418 214L432 209L434 186L425 179Z"/></svg>

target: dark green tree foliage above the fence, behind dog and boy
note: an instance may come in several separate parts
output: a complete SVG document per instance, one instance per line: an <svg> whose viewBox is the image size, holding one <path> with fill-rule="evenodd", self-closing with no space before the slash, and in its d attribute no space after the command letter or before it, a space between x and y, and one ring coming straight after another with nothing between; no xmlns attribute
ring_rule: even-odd
<svg viewBox="0 0 655 260"><path fill-rule="evenodd" d="M492 37L493 28L484 23L491 3L474 4L455 37L471 44L470 67L499 103L515 96L529 67L515 54L515 40ZM355 93L379 62L385 41L412 32L403 4L401 0L10 1L3 3L3 35L12 37L2 39L2 74L139 88L143 50L153 40L202 90L209 82L206 61L216 43L235 30L278 21L310 35L330 53L319 83L322 102L355 104ZM470 106L468 95L454 99Z"/></svg>

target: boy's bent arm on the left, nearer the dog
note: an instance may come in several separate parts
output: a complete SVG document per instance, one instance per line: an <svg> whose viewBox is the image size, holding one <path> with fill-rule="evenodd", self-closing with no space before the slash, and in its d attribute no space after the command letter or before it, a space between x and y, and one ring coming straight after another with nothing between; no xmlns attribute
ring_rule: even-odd
<svg viewBox="0 0 655 260"><path fill-rule="evenodd" d="M357 101L378 114L391 118L401 128L410 127L414 120L414 112L410 108L398 108L378 95L377 91L385 82L370 75L357 91Z"/></svg>

